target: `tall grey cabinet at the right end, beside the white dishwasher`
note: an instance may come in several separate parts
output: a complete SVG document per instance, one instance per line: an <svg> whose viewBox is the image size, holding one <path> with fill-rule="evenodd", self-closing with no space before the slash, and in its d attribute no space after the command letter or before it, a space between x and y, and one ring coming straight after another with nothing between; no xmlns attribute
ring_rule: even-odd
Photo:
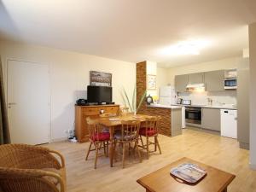
<svg viewBox="0 0 256 192"><path fill-rule="evenodd" d="M248 62L248 61L247 61ZM249 69L237 70L237 140L240 148L249 149L250 141L250 105L249 105Z"/></svg>

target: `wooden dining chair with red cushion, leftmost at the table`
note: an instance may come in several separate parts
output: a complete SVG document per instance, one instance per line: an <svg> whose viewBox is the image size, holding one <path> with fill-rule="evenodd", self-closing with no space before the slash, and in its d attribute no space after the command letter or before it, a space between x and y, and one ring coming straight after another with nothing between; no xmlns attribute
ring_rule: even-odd
<svg viewBox="0 0 256 192"><path fill-rule="evenodd" d="M106 157L108 157L108 142L110 139L110 134L109 132L103 131L102 126L99 125L96 119L86 118L86 122L88 125L88 131L89 131L90 146L88 148L85 160L88 160L90 151L96 151L96 156L94 161L94 168L96 169L99 149L104 148L104 154L106 155ZM91 149L91 145L94 145L95 148Z"/></svg>

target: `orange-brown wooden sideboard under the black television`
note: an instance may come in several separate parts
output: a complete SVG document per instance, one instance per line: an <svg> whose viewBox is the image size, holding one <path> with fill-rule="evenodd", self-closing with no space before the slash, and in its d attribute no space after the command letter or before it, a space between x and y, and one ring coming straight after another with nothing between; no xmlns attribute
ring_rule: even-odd
<svg viewBox="0 0 256 192"><path fill-rule="evenodd" d="M105 113L119 113L119 105L75 106L75 135L79 143L88 142L89 132L86 118L99 117L102 109Z"/></svg>

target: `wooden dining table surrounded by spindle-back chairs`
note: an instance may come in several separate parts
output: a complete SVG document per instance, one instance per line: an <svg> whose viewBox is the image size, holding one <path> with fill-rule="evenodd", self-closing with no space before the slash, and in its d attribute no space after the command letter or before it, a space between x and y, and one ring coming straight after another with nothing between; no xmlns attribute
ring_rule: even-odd
<svg viewBox="0 0 256 192"><path fill-rule="evenodd" d="M109 130L110 134L110 153L109 153L109 160L110 160L110 166L113 167L113 135L114 131L116 129L119 129L122 125L122 120L139 120L141 122L146 121L147 118L150 118L152 116L146 115L146 114L132 114L127 113L120 116L113 116L113 117L99 117L96 118L100 125L102 125L104 128L107 128Z"/></svg>

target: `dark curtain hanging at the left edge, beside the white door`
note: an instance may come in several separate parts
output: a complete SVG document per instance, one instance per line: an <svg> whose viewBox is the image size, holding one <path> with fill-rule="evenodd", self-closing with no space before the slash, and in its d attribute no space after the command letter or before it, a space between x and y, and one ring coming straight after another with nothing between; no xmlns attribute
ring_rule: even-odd
<svg viewBox="0 0 256 192"><path fill-rule="evenodd" d="M0 144L10 143L7 108L3 87L3 68L0 57Z"/></svg>

